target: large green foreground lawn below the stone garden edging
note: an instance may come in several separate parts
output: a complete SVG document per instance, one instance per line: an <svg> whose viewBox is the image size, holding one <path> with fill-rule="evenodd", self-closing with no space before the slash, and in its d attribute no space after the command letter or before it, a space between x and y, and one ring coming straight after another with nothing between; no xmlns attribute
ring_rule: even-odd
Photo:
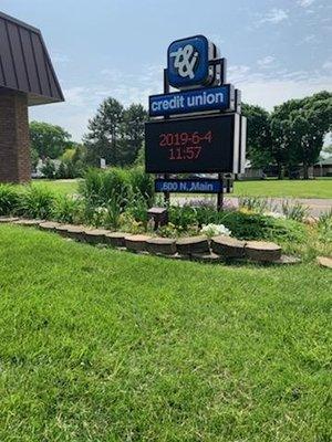
<svg viewBox="0 0 332 442"><path fill-rule="evenodd" d="M330 441L331 284L1 225L0 441Z"/></svg>

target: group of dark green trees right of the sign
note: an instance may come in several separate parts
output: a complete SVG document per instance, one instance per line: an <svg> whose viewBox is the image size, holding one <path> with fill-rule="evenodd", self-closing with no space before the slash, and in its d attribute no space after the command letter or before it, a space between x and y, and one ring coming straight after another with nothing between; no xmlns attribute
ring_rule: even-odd
<svg viewBox="0 0 332 442"><path fill-rule="evenodd" d="M318 161L332 128L332 94L323 91L290 99L271 113L248 104L242 107L248 118L247 157L252 167L276 166L282 179L301 166L308 179L309 168Z"/></svg>

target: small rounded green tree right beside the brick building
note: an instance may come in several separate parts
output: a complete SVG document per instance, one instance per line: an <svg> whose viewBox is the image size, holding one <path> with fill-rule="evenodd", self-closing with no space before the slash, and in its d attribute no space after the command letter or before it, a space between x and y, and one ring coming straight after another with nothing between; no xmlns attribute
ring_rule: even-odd
<svg viewBox="0 0 332 442"><path fill-rule="evenodd" d="M39 158L59 158L70 146L71 135L60 126L42 122L30 123L31 147Z"/></svg>

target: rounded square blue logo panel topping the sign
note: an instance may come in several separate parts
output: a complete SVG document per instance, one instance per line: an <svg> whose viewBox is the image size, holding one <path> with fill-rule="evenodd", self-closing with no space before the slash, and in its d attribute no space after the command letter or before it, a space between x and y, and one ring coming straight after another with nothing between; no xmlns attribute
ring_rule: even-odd
<svg viewBox="0 0 332 442"><path fill-rule="evenodd" d="M174 87L203 86L209 81L209 41L204 35L177 40L168 48L168 82Z"/></svg>

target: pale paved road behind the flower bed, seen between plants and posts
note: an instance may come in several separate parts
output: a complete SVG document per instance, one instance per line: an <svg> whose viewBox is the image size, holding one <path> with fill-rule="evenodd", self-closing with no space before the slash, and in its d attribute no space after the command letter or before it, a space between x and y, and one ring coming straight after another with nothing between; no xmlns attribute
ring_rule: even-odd
<svg viewBox="0 0 332 442"><path fill-rule="evenodd" d="M216 197L208 197L208 196L201 196L201 197L172 197L173 201L177 201L179 204L185 204L188 203L189 201L193 201L193 203L199 201L199 200L208 200L208 201L216 201ZM273 211L281 212L281 204L284 199L282 198L266 198L270 207L272 208ZM309 213L313 217L319 217L321 213L324 213L329 210L332 210L332 199L319 199L319 198L312 198L312 199L304 199L304 198L295 198L295 199L288 199L290 203L295 203L297 201L300 202L303 206L307 206L309 209ZM239 206L239 200L236 197L226 197L225 198L225 203L227 206L231 207L238 207Z"/></svg>

